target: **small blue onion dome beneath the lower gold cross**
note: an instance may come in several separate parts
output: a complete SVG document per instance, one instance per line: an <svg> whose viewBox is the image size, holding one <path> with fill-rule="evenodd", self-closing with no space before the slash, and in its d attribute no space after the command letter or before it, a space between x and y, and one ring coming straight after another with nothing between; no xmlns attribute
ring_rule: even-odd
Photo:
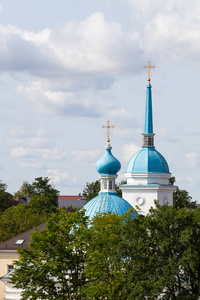
<svg viewBox="0 0 200 300"><path fill-rule="evenodd" d="M106 152L96 163L97 172L106 175L116 175L121 169L120 162L112 155L111 146L106 147Z"/></svg>

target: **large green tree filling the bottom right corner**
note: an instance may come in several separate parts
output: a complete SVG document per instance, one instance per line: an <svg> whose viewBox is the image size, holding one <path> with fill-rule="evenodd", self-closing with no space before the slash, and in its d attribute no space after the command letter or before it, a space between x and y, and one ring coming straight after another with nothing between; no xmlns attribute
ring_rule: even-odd
<svg viewBox="0 0 200 300"><path fill-rule="evenodd" d="M127 299L199 299L199 215L198 208L164 205L131 221L124 249L130 258L129 281L135 286Z"/></svg>

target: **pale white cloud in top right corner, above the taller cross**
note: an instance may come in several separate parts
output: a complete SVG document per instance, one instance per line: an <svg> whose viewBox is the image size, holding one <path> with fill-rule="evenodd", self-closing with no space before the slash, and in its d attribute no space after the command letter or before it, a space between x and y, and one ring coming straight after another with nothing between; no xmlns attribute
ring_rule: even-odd
<svg viewBox="0 0 200 300"><path fill-rule="evenodd" d="M172 63L195 61L200 56L200 2L198 0L129 0L133 24L148 56Z"/></svg>

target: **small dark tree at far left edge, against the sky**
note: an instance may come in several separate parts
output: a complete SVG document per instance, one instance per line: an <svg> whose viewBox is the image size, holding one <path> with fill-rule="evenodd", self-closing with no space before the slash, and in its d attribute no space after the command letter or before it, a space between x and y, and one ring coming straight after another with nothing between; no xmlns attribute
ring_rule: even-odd
<svg viewBox="0 0 200 300"><path fill-rule="evenodd" d="M2 181L0 180L0 212L5 211L11 206L18 205L18 202L15 201L13 196L6 190L7 185L5 183L2 183Z"/></svg>

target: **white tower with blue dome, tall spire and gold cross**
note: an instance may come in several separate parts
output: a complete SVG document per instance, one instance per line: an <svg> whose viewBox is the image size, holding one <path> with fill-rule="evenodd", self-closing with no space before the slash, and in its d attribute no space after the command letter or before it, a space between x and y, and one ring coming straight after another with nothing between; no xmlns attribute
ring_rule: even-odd
<svg viewBox="0 0 200 300"><path fill-rule="evenodd" d="M154 146L152 86L150 70L154 66L148 62L148 84L146 90L146 107L144 118L143 142L141 149L130 159L125 177L127 184L121 186L122 196L133 207L139 208L139 213L146 215L154 200L160 205L173 204L175 186L169 184L171 173L165 158Z"/></svg>

